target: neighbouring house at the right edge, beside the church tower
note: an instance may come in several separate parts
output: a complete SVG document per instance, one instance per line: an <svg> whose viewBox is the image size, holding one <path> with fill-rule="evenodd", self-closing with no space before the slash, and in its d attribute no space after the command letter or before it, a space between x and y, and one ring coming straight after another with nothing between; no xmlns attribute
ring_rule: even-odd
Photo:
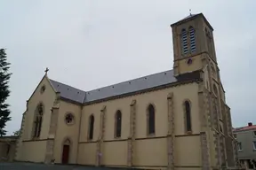
<svg viewBox="0 0 256 170"><path fill-rule="evenodd" d="M237 140L238 159L248 168L256 169L256 125L252 122L242 128L234 128L233 134Z"/></svg>

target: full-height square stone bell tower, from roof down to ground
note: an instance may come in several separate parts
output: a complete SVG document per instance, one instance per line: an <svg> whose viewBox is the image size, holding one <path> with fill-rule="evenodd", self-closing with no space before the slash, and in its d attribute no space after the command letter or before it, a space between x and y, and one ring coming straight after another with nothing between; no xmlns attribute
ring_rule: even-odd
<svg viewBox="0 0 256 170"><path fill-rule="evenodd" d="M220 81L213 28L203 13L190 14L171 25L173 42L173 73L179 77L200 73L198 98L204 108L201 115L208 117L202 131L212 136L212 165L237 166L236 140L232 134L230 108L226 104L225 91ZM206 109L205 109L206 108Z"/></svg>

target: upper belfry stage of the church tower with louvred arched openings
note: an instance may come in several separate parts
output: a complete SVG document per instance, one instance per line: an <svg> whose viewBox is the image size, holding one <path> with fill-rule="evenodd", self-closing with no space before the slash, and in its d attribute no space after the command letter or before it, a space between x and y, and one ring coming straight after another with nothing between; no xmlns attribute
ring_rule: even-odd
<svg viewBox="0 0 256 170"><path fill-rule="evenodd" d="M203 13L190 13L171 27L174 76L202 70L209 60L217 65L213 28Z"/></svg>

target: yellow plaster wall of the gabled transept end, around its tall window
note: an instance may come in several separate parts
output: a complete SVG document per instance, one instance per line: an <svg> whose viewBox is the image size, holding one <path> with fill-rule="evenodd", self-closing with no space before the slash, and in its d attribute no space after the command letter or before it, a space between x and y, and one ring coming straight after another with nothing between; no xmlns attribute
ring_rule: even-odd
<svg viewBox="0 0 256 170"><path fill-rule="evenodd" d="M43 94L40 93L42 86L45 85L45 91ZM21 134L22 143L19 144L20 148L17 148L17 153L19 157L18 160L26 160L32 162L44 162L45 154L45 140L48 138L50 120L51 120L51 109L53 102L55 100L55 92L52 89L50 82L46 77L39 83L36 90L28 100L28 108L25 112L24 128ZM39 141L31 142L32 140L32 129L34 126L34 116L36 111L36 106L42 102L44 104L44 116L41 128L41 134L39 136ZM30 141L30 142L26 142Z"/></svg>

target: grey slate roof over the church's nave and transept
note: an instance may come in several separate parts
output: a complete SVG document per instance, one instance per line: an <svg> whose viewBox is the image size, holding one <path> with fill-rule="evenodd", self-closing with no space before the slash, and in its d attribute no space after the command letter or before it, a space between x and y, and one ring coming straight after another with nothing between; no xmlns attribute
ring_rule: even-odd
<svg viewBox="0 0 256 170"><path fill-rule="evenodd" d="M158 86L167 85L177 81L177 79L173 76L173 70L168 70L165 72L154 73L148 76L140 77L131 81L124 81L104 88L93 89L90 91L76 89L51 79L50 81L53 88L60 92L60 97L84 104L108 97L115 97L143 89L151 89Z"/></svg>

